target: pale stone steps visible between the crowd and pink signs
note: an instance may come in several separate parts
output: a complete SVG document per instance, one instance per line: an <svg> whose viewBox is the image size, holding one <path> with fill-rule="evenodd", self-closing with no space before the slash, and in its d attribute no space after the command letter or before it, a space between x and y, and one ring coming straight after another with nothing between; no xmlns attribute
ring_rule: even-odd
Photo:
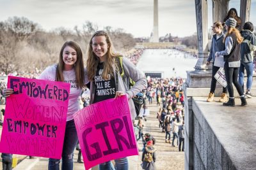
<svg viewBox="0 0 256 170"><path fill-rule="evenodd" d="M3 106L3 105L2 105ZM156 103L148 105L150 109L150 116L147 118L147 122L144 122L145 127L143 129L144 133L150 133L156 138L156 149L157 149L157 170L168 170L168 169L184 169L184 152L178 152L177 147L172 147L171 143L165 143L165 133L161 132L159 129L159 122L156 118L156 112L158 107ZM0 131L1 132L1 131ZM175 141L176 143L176 141ZM142 141L138 142L138 147L140 149L139 156L129 157L129 169L140 170L141 169L141 149L143 148ZM24 156L17 155L18 157ZM84 169L83 164L76 162L77 151L74 153L74 169L82 170ZM24 159L15 170L47 170L48 159L36 157L36 159L29 159L28 157Z"/></svg>

